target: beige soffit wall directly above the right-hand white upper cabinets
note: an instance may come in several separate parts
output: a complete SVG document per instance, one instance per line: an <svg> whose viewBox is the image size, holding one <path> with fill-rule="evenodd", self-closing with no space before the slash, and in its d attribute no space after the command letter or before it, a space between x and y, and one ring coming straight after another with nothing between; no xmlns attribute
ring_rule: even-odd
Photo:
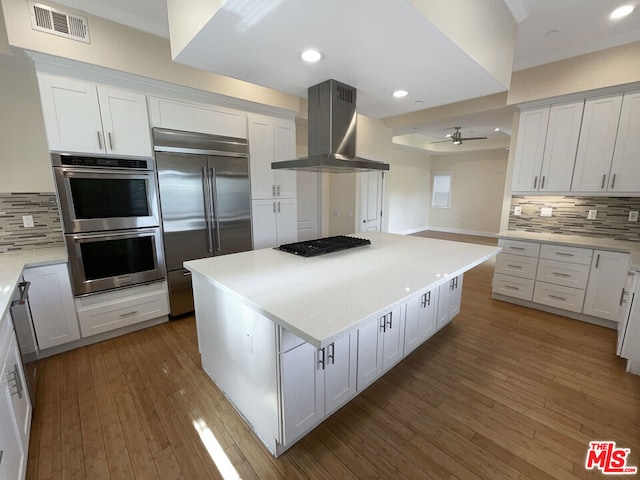
<svg viewBox="0 0 640 480"><path fill-rule="evenodd" d="M517 105L640 82L640 42L513 72L507 97Z"/></svg>

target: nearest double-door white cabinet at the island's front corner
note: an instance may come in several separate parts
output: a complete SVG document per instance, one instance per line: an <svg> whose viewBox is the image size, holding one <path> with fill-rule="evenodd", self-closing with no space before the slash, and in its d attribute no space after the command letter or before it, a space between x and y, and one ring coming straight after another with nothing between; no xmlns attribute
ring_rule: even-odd
<svg viewBox="0 0 640 480"><path fill-rule="evenodd" d="M281 354L284 444L289 445L356 394L356 335L325 348L302 343Z"/></svg>

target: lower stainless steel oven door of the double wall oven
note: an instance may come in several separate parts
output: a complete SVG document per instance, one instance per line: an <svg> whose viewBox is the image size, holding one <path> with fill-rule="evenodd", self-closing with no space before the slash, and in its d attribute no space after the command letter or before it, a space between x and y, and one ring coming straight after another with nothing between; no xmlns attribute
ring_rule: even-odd
<svg viewBox="0 0 640 480"><path fill-rule="evenodd" d="M160 228L65 235L75 295L164 278Z"/></svg>

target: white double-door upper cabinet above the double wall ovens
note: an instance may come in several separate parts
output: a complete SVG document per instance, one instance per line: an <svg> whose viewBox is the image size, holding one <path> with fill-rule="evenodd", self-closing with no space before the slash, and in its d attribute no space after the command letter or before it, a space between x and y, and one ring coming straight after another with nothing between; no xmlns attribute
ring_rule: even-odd
<svg viewBox="0 0 640 480"><path fill-rule="evenodd" d="M152 155L144 94L38 74L49 148L113 155Z"/></svg>

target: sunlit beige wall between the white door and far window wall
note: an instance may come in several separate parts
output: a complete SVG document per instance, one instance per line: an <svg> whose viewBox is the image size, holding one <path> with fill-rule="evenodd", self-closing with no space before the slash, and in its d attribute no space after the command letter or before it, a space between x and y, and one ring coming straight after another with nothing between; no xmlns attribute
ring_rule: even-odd
<svg viewBox="0 0 640 480"><path fill-rule="evenodd" d="M429 225L431 157L426 153L394 147L385 174L389 199L386 231L415 233Z"/></svg>

